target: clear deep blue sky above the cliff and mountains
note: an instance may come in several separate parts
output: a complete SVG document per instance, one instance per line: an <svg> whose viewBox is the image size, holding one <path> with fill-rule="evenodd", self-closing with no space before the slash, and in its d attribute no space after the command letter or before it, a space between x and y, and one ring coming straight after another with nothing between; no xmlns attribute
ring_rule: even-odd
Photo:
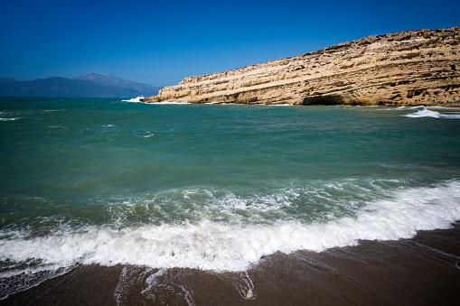
<svg viewBox="0 0 460 306"><path fill-rule="evenodd" d="M373 34L460 26L460 1L0 0L0 76L155 86Z"/></svg>

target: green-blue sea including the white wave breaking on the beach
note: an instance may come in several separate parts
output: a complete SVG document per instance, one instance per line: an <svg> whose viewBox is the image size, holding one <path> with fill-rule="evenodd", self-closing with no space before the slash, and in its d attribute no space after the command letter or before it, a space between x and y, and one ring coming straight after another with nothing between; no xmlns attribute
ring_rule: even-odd
<svg viewBox="0 0 460 306"><path fill-rule="evenodd" d="M244 273L460 219L460 108L1 97L0 154L0 299L82 264Z"/></svg>

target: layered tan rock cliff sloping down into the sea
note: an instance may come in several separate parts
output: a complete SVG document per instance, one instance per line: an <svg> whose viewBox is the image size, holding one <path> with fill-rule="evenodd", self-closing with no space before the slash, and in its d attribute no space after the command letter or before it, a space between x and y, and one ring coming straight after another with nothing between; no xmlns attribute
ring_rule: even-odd
<svg viewBox="0 0 460 306"><path fill-rule="evenodd" d="M460 27L373 35L185 78L143 101L460 107Z"/></svg>

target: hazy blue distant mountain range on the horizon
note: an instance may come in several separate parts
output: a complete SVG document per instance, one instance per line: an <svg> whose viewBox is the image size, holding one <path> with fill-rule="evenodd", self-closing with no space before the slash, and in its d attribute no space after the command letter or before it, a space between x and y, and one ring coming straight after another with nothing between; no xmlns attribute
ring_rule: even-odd
<svg viewBox="0 0 460 306"><path fill-rule="evenodd" d="M149 97L157 95L160 89L98 72L72 79L20 81L0 77L0 97Z"/></svg>

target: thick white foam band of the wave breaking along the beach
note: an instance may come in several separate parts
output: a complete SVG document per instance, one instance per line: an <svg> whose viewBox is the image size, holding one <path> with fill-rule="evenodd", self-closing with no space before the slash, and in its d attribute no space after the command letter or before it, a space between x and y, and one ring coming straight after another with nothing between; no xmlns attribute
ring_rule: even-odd
<svg viewBox="0 0 460 306"><path fill-rule="evenodd" d="M321 252L333 246L356 245L359 239L408 238L418 230L450 227L457 219L460 182L449 181L436 188L394 190L388 198L368 203L354 217L310 224L298 220L230 224L203 218L182 225L93 226L33 238L10 235L0 241L0 260L35 259L45 266L64 267L80 262L244 271L261 256L277 251Z"/></svg>

